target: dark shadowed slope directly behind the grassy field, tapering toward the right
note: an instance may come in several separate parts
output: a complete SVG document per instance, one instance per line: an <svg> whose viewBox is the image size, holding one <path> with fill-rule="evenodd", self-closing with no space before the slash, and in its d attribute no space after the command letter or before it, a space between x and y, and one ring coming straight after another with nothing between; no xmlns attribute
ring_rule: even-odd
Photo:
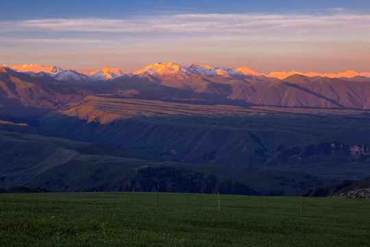
<svg viewBox="0 0 370 247"><path fill-rule="evenodd" d="M155 191L160 185L167 192L293 195L331 182L304 172L161 162L136 150L49 137L30 126L0 128L1 187Z"/></svg>

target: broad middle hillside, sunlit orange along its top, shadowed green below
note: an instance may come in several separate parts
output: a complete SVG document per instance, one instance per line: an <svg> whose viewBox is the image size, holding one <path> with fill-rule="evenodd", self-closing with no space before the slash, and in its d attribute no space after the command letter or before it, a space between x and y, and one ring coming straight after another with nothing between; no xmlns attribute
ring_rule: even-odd
<svg viewBox="0 0 370 247"><path fill-rule="evenodd" d="M40 126L77 141L134 148L169 161L301 169L334 179L370 173L366 114L278 110L94 97L45 115Z"/></svg>

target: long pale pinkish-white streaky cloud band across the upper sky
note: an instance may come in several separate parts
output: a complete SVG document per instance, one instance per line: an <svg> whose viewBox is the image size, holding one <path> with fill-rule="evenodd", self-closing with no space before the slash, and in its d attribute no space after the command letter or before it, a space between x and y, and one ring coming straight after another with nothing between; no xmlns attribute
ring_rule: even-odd
<svg viewBox="0 0 370 247"><path fill-rule="evenodd" d="M133 19L39 19L0 23L3 32L293 34L370 30L370 14L174 14ZM369 32L370 33L370 32Z"/></svg>

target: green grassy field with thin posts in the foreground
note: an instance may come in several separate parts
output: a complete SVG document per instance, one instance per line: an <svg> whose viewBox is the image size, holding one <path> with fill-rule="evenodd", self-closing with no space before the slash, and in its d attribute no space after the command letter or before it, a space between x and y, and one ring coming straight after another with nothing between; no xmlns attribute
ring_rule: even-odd
<svg viewBox="0 0 370 247"><path fill-rule="evenodd" d="M370 246L370 200L160 193L0 195L0 246Z"/></svg>

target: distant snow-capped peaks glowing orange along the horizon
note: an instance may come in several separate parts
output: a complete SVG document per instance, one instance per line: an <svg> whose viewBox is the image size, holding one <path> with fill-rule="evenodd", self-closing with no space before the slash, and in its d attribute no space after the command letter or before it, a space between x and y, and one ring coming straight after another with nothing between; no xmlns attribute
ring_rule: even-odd
<svg viewBox="0 0 370 247"><path fill-rule="evenodd" d="M74 80L74 81L106 81L118 78L120 76L142 76L142 75L154 75L161 79L185 79L192 75L206 75L206 76L224 76L226 78L243 78L247 77L262 77L262 78L278 78L285 79L290 75L306 75L308 77L328 77L328 78L353 78L355 76L362 76L370 78L369 72L358 73L356 71L345 71L341 73L301 73L298 71L291 72L271 72L269 74L258 73L247 67L240 67L233 69L231 67L211 67L208 65L193 62L187 67L183 67L175 62L168 62L167 64L155 63L150 64L147 67L134 71L133 73L126 73L117 68L104 67L98 71L75 71L75 70L64 70L60 67L49 66L44 67L37 64L23 64L23 65L10 65L3 64L3 67L12 69L21 73L36 73L36 74L47 74L51 75L56 80Z"/></svg>

